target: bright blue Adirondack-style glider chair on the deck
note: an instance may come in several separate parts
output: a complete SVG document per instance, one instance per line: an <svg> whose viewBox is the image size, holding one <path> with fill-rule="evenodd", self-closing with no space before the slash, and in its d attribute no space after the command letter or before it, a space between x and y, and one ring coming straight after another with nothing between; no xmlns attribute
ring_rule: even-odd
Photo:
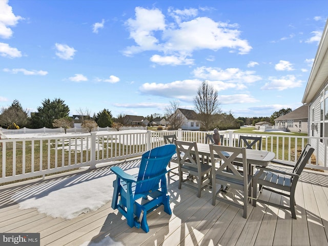
<svg viewBox="0 0 328 246"><path fill-rule="evenodd" d="M112 208L127 218L130 227L149 232L147 213L160 205L172 214L167 195L167 166L176 152L173 144L160 146L144 153L141 157L139 173L130 175L119 167L112 167L116 174L113 182Z"/></svg>

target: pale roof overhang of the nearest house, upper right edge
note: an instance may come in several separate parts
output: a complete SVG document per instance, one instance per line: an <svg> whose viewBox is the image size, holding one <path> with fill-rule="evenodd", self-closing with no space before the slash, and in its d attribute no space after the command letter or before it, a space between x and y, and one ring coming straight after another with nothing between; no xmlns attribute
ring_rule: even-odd
<svg viewBox="0 0 328 246"><path fill-rule="evenodd" d="M306 84L303 104L309 104L320 93L328 78L328 19L322 32L321 40L318 46L316 57L313 61L312 70Z"/></svg>

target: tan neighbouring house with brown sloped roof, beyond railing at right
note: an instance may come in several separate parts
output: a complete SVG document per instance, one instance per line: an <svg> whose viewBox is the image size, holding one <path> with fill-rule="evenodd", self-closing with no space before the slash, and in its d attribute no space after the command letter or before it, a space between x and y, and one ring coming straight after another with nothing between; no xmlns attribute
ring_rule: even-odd
<svg viewBox="0 0 328 246"><path fill-rule="evenodd" d="M275 126L286 127L291 132L308 133L309 107L303 105L292 112L276 118Z"/></svg>

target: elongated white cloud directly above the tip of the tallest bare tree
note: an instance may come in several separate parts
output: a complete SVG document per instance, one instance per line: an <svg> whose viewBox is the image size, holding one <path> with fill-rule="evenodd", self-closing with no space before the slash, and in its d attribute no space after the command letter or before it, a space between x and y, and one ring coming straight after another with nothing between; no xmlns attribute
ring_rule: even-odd
<svg viewBox="0 0 328 246"><path fill-rule="evenodd" d="M242 71L239 68L199 67L194 69L193 74L197 78L210 80L230 81L231 83L254 83L262 78L254 74L254 71Z"/></svg>

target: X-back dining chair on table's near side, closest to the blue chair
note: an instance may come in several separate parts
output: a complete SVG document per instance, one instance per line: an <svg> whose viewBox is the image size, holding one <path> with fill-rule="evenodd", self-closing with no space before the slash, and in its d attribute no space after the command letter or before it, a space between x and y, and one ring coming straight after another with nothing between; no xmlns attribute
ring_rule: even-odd
<svg viewBox="0 0 328 246"><path fill-rule="evenodd" d="M208 185L208 182L211 185L211 166L204 163L203 159L200 160L196 142L176 140L175 144L178 159L180 160L179 189L181 189L182 184L197 189L197 196L200 197L201 190ZM183 156L181 153L183 153ZM186 174L187 178L185 178Z"/></svg>

